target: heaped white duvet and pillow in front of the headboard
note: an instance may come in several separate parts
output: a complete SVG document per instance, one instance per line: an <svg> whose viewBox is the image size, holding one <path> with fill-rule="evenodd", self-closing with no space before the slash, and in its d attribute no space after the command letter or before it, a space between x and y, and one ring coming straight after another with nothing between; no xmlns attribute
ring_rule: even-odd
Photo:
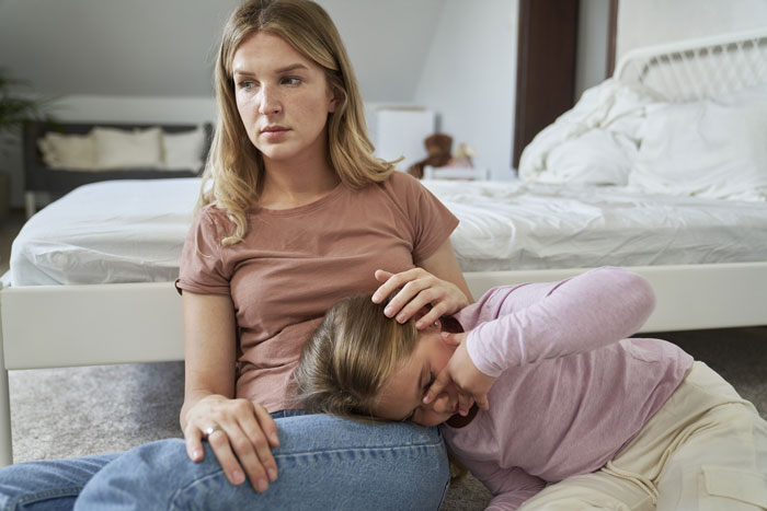
<svg viewBox="0 0 767 511"><path fill-rule="evenodd" d="M765 201L766 135L767 84L668 103L610 79L535 137L522 154L519 176Z"/></svg>

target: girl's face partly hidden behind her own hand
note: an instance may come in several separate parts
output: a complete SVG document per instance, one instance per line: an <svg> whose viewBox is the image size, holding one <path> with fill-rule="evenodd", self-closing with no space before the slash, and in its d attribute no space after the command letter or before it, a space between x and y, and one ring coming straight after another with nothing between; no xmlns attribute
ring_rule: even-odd
<svg viewBox="0 0 767 511"><path fill-rule="evenodd" d="M428 405L422 402L430 385L456 350L443 339L440 330L439 323L421 330L413 355L381 387L376 408L378 417L436 426L458 413L458 388L453 383Z"/></svg>

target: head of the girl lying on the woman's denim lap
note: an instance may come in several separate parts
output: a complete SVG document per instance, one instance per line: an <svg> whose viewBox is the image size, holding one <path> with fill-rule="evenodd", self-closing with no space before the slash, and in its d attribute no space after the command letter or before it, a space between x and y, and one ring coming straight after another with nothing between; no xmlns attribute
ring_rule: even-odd
<svg viewBox="0 0 767 511"><path fill-rule="evenodd" d="M342 417L444 422L457 413L456 387L428 405L421 399L455 348L443 339L439 322L419 332L420 316L399 324L385 307L386 302L356 297L328 311L294 373L299 399Z"/></svg>

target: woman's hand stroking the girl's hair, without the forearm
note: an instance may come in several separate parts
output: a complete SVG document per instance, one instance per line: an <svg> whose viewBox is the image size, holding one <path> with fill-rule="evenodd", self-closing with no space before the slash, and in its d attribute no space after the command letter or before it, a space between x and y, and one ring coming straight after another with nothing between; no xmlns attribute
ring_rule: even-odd
<svg viewBox="0 0 767 511"><path fill-rule="evenodd" d="M426 305L431 305L431 310L415 324L419 329L469 304L466 294L456 284L438 279L423 268L413 268L400 274L379 269L376 270L376 280L382 284L373 294L375 303L381 303L399 289L384 311L388 317L397 316L398 322L404 323Z"/></svg>

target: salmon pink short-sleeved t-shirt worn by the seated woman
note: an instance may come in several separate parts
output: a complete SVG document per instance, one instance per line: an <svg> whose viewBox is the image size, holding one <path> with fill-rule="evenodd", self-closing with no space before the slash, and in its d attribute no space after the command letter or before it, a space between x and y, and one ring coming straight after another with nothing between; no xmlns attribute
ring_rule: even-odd
<svg viewBox="0 0 767 511"><path fill-rule="evenodd" d="M242 242L225 211L203 208L188 232L179 289L231 295L238 325L237 397L268 411L300 407L290 374L301 346L342 298L371 293L376 269L419 266L449 237L458 220L412 176L380 184L343 183L298 208L255 208Z"/></svg>

